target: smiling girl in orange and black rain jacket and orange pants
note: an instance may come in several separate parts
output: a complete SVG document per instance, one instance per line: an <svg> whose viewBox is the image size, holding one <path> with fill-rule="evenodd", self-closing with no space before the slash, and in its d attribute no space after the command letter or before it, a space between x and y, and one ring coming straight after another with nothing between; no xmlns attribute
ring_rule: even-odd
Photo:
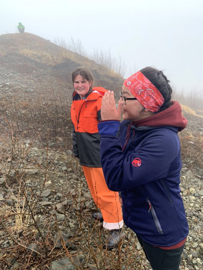
<svg viewBox="0 0 203 270"><path fill-rule="evenodd" d="M101 210L101 213L94 213L93 217L103 220L103 227L109 232L104 247L111 249L121 241L123 218L118 192L108 189L100 162L97 124L101 120L102 97L107 90L102 87L92 88L93 76L85 67L73 70L72 83L73 154L79 158L91 195Z"/></svg>

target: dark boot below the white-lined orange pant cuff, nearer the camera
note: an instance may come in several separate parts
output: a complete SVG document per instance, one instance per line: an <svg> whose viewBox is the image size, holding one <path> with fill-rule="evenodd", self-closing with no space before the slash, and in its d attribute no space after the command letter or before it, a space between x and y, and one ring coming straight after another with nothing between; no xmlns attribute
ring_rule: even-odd
<svg viewBox="0 0 203 270"><path fill-rule="evenodd" d="M118 243L121 242L124 238L124 232L122 232L122 228L108 230L108 233L109 237L107 238L106 243L103 246L106 249L112 249L114 247L117 247Z"/></svg>

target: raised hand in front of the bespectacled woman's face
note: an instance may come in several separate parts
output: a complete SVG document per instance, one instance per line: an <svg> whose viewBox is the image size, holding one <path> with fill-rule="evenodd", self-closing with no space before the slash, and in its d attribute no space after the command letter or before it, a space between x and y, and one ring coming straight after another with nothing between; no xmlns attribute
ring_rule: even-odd
<svg viewBox="0 0 203 270"><path fill-rule="evenodd" d="M101 105L101 118L102 120L121 120L123 102L118 104L118 108L115 106L114 92L108 91L102 98Z"/></svg>

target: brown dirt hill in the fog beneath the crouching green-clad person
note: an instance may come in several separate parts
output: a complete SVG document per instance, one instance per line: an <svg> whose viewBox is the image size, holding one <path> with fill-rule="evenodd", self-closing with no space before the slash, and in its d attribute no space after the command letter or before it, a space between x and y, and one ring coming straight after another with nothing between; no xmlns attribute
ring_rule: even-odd
<svg viewBox="0 0 203 270"><path fill-rule="evenodd" d="M0 82L31 80L33 87L39 87L51 81L71 87L72 70L81 65L90 68L95 86L120 91L123 80L109 76L104 68L86 57L30 33L0 35Z"/></svg>

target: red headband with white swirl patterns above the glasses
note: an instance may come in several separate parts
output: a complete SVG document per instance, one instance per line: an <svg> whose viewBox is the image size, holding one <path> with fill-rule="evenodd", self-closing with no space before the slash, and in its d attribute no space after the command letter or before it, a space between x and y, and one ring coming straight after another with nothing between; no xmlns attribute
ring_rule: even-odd
<svg viewBox="0 0 203 270"><path fill-rule="evenodd" d="M123 84L151 112L158 111L164 104L161 93L140 71L131 75Z"/></svg>

